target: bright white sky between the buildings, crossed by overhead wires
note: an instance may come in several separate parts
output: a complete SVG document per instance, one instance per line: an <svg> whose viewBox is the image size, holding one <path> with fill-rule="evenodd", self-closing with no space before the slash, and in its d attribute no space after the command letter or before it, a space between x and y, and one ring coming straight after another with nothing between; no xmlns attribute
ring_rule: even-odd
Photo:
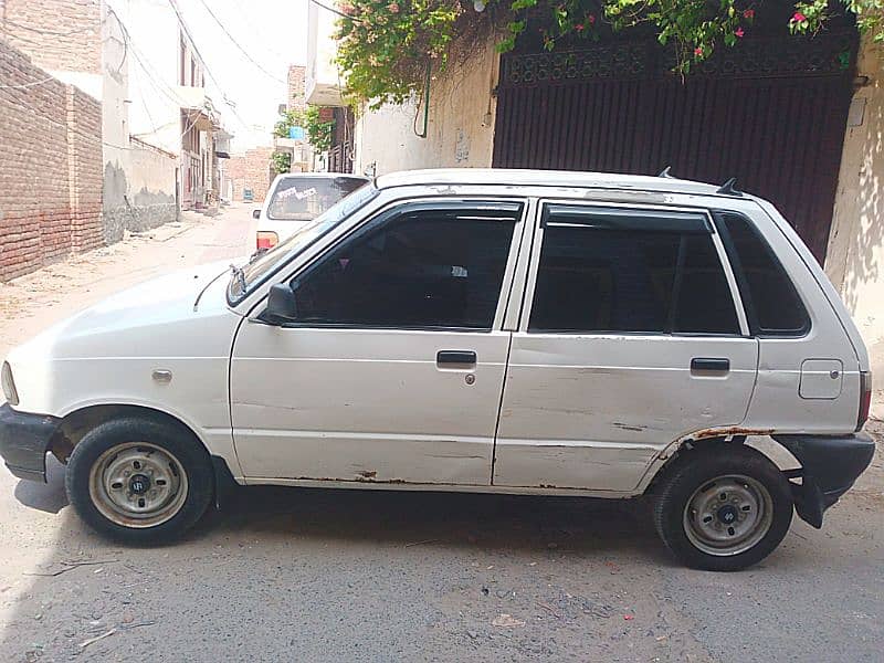
<svg viewBox="0 0 884 663"><path fill-rule="evenodd" d="M204 2L204 4L203 4ZM235 113L215 98L207 76L207 88L234 134L232 151L272 145L277 107L287 97L290 64L307 59L307 2L309 0L178 0L185 22L211 75L224 96L235 103ZM220 19L261 71L238 49L210 15Z"/></svg>

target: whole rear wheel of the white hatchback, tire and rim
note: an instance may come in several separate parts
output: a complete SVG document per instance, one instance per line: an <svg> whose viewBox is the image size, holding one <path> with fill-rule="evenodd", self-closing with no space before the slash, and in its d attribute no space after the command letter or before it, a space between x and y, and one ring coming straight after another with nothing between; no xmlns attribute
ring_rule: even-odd
<svg viewBox="0 0 884 663"><path fill-rule="evenodd" d="M789 482L758 451L737 445L694 451L661 478L654 525L692 568L736 571L767 557L792 520Z"/></svg>

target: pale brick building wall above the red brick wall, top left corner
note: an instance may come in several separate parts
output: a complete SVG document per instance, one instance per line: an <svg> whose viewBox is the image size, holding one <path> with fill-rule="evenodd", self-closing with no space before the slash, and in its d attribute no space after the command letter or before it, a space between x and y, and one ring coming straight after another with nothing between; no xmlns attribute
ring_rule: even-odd
<svg viewBox="0 0 884 663"><path fill-rule="evenodd" d="M101 0L0 0L0 39L44 70L102 73Z"/></svg>

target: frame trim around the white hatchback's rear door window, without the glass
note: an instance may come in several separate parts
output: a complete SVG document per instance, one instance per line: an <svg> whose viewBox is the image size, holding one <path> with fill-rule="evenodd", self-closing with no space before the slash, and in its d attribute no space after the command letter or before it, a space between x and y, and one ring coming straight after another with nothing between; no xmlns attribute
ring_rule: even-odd
<svg viewBox="0 0 884 663"><path fill-rule="evenodd" d="M715 251L718 254L718 262L720 263L722 267L724 269L725 280L727 281L727 286L730 291L730 297L735 307L735 312L737 314L737 323L739 325L739 333L738 334L711 334L705 332L675 332L675 333L667 333L667 332L619 332L619 330L604 330L604 332L591 332L591 330L576 330L576 332L529 332L528 330L528 323L530 320L532 315L532 307L534 306L534 294L535 288L537 286L537 272L540 265L540 253L544 248L544 230L547 225L546 219L549 214L548 210L555 208L556 206L564 206L564 207L571 207L571 208L589 208L591 210L606 210L606 209L615 209L622 210L624 213L628 212L636 212L640 217L650 217L652 213L656 214L691 214L696 217L697 214L703 215L705 220L705 225L707 230L704 230L704 234L708 232L709 236L712 238L713 245L715 246ZM603 212L602 212L603 214ZM570 199L562 199L562 198L549 198L549 199L540 199L537 203L536 213L534 217L534 235L530 249L530 265L528 266L527 273L527 283L525 286L525 295L522 305L522 314L519 316L518 323L518 332L522 334L532 334L535 336L539 335L556 335L556 336L649 336L654 338L667 338L667 337L697 337L697 338L748 338L751 336L749 332L749 323L746 317L745 306L743 304L743 297L740 297L739 287L737 285L737 278L734 273L733 266L730 265L730 261L728 260L727 252L725 251L725 246L722 243L722 238L718 234L717 227L713 220L713 217L707 208L693 208L690 206L659 206L659 204L638 204L638 203L619 203L619 202L608 202L608 201L582 201L582 200L570 200Z"/></svg>

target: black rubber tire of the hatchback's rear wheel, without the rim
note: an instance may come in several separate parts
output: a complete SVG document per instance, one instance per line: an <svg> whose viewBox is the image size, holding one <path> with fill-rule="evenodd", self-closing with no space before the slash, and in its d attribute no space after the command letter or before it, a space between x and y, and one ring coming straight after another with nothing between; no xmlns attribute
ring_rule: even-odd
<svg viewBox="0 0 884 663"><path fill-rule="evenodd" d="M758 564L780 545L792 522L791 490L782 472L762 453L748 446L723 444L686 452L674 463L664 471L654 488L653 518L663 543L686 566L709 571L738 571ZM692 541L685 512L697 491L714 485L712 482L717 477L730 475L748 477L767 490L772 503L768 509L769 526L746 550L711 554ZM764 528L759 527L757 536L761 532Z"/></svg>

